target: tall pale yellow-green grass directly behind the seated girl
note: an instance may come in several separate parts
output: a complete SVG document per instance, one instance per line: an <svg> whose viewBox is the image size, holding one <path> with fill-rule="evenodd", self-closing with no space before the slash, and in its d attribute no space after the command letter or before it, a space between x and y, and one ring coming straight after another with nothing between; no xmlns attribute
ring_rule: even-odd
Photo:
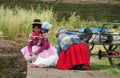
<svg viewBox="0 0 120 78"><path fill-rule="evenodd" d="M71 13L68 20L63 17L61 21L58 21L57 14L52 9L41 9L40 6L37 9L31 8L26 10L15 6L15 8L4 8L0 6L0 32L3 33L5 39L15 40L19 34L29 34L33 19L40 18L41 21L48 21L53 25L50 30L50 41L52 44L56 44L55 34L58 28L64 27L67 29L80 29L86 26L99 26L102 24L100 21L82 20L76 13Z"/></svg>

